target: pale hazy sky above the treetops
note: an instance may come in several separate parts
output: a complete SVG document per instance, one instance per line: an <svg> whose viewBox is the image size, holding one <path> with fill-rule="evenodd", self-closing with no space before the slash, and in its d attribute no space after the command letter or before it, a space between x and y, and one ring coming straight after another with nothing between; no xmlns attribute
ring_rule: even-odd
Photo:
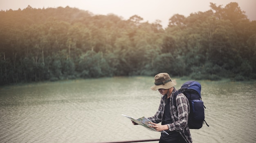
<svg viewBox="0 0 256 143"><path fill-rule="evenodd" d="M250 20L256 20L256 0L0 0L0 10L25 9L28 5L36 9L70 6L95 15L113 13L124 20L132 15L138 15L149 23L161 20L162 26L166 27L174 14L187 17L191 13L208 11L210 2L222 7L237 2Z"/></svg>

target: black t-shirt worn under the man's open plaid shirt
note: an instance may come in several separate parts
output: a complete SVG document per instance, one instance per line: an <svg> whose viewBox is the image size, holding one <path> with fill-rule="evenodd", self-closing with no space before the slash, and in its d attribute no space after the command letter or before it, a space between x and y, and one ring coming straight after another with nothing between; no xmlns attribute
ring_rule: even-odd
<svg viewBox="0 0 256 143"><path fill-rule="evenodd" d="M166 125L166 124L171 124L173 123L173 120L171 119L171 113L170 113L170 98L167 99L166 104L165 104L165 108L164 108L164 115L163 115L163 119L162 119L162 125ZM173 141L178 139L178 137L180 136L179 132L176 131L166 131L168 132L168 134L162 133L161 134L161 138L164 141Z"/></svg>

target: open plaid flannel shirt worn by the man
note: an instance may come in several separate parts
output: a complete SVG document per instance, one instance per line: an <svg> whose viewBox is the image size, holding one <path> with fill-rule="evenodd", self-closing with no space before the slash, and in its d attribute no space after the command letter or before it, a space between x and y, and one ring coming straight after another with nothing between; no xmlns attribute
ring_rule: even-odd
<svg viewBox="0 0 256 143"><path fill-rule="evenodd" d="M167 124L170 131L180 132L182 137L186 140L187 143L192 143L192 137L189 131L188 119L189 119L189 100L183 93L180 93L176 97L176 105L173 105L173 94L177 91L173 88L173 92L171 93L170 98L170 114L171 118L174 121L171 124ZM148 119L153 123L160 123L162 121L164 115L164 107L166 103L167 95L164 95L161 98L161 102L158 108L157 113L153 117L149 117Z"/></svg>

